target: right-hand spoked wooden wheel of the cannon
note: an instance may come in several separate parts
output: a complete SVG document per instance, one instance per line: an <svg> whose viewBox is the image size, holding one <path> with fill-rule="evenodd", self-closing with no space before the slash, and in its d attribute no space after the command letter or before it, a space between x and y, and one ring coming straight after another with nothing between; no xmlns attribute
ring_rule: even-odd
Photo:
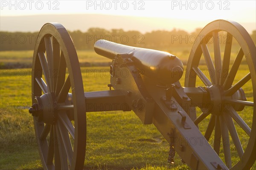
<svg viewBox="0 0 256 170"><path fill-rule="evenodd" d="M211 46L213 54L208 49ZM238 52L235 58L230 55L232 48ZM237 73L242 74L242 65L249 71L239 78ZM201 84L196 83L196 78ZM201 109L194 123L199 130L207 127L203 134L210 144L213 142L218 155L224 154L227 167L250 169L256 159L256 48L240 24L215 20L199 33L189 55L185 78L185 87L195 86L209 90L215 108Z"/></svg>

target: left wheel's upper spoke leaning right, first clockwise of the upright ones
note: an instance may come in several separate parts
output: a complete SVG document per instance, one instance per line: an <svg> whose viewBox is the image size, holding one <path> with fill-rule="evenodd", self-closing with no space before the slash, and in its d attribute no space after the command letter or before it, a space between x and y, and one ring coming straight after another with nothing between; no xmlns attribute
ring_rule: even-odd
<svg viewBox="0 0 256 170"><path fill-rule="evenodd" d="M58 66L57 84L55 89L56 96L58 96L59 92L61 91L61 88L65 82L65 76L66 76L66 61L64 58L64 54L61 51L61 57L60 57L59 66Z"/></svg>

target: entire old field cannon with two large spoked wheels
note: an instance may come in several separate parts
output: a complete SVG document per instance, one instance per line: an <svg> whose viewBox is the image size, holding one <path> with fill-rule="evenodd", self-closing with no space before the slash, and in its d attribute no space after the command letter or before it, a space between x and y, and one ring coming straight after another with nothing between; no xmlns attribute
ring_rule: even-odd
<svg viewBox="0 0 256 170"><path fill-rule="evenodd" d="M219 36L223 33L221 52ZM33 104L29 112L35 136L40 138L38 150L45 170L83 169L86 112L105 111L87 104L104 103L125 103L128 107L112 108L133 110L143 124L154 124L170 145L170 163L174 163L177 152L193 170L242 170L253 166L256 47L239 23L215 20L205 26L193 44L186 69L168 52L98 40L95 52L112 60L109 90L98 92L84 92L76 49L61 24L47 23L39 35L33 55ZM238 48L236 56L231 55L232 48ZM202 67L202 60L207 68ZM242 63L248 72L238 78ZM182 76L186 76L184 87L179 82ZM245 120L243 114L250 114L250 120ZM205 131L202 122L207 126ZM241 138L248 140L241 144ZM231 148L235 148L235 155Z"/></svg>

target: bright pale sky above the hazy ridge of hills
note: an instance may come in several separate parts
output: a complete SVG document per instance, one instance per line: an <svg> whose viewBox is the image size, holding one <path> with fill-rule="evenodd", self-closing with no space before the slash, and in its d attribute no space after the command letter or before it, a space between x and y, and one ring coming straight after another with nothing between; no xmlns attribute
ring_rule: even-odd
<svg viewBox="0 0 256 170"><path fill-rule="evenodd" d="M1 16L113 14L189 20L256 21L255 0L0 0Z"/></svg>

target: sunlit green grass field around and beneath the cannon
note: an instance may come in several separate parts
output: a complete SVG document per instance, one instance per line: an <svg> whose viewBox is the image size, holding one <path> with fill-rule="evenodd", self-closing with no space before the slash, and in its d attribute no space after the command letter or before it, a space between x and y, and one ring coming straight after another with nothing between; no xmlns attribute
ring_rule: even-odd
<svg viewBox="0 0 256 170"><path fill-rule="evenodd" d="M187 52L180 52L180 55ZM31 62L32 51L1 52L1 62ZM79 51L80 62L110 62L96 56L93 52ZM12 56L23 56L15 58ZM183 60L187 60L184 57ZM104 72L109 67L81 67L84 91L108 90L108 74L90 74L86 72ZM246 65L235 81L247 74ZM180 83L184 85L184 78ZM198 85L201 85L198 81ZM252 100L251 84L244 86L247 99ZM41 160L35 140L32 116L28 112L31 106L31 69L0 69L0 169L1 170L41 170ZM252 110L246 107L241 117L249 126L252 123ZM200 130L204 132L207 120L202 122ZM236 124L235 124L236 125ZM247 146L248 136L236 125L242 146ZM204 134L204 133L203 133ZM209 141L212 143L212 140ZM231 141L232 144L232 141ZM143 170L186 170L179 156L175 155L175 165L167 163L169 144L154 127L143 125L134 112L88 112L87 113L87 150L84 162L86 169L143 169ZM233 164L239 160L235 147L231 148ZM224 160L224 155L220 157ZM254 163L252 170L256 169Z"/></svg>

